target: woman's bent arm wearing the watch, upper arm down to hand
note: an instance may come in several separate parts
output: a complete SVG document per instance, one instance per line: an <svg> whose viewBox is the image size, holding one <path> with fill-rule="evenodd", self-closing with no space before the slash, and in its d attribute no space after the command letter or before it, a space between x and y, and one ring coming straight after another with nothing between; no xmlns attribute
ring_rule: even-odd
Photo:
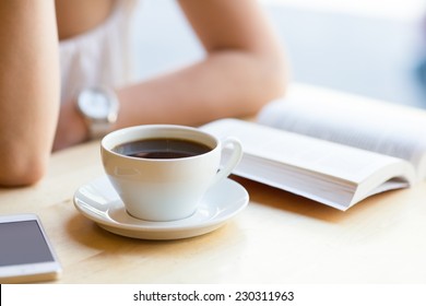
<svg viewBox="0 0 426 306"><path fill-rule="evenodd" d="M117 91L115 128L141 123L200 125L250 116L282 95L283 50L256 0L180 0L206 57L194 64ZM86 139L75 107L62 106L56 149ZM72 126L72 127L71 127ZM72 129L73 133L67 134Z"/></svg>

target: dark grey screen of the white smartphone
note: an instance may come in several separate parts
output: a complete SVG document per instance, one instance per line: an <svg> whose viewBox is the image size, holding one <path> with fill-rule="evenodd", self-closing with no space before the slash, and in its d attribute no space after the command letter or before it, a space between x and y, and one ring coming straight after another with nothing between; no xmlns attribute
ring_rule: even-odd
<svg viewBox="0 0 426 306"><path fill-rule="evenodd" d="M54 260L37 221L0 223L0 267Z"/></svg>

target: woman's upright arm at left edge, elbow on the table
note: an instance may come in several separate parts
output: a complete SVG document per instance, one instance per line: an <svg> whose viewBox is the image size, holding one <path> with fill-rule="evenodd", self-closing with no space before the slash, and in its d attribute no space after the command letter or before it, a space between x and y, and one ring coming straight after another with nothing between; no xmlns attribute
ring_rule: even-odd
<svg viewBox="0 0 426 306"><path fill-rule="evenodd" d="M59 108L54 0L0 1L0 186L46 170Z"/></svg>

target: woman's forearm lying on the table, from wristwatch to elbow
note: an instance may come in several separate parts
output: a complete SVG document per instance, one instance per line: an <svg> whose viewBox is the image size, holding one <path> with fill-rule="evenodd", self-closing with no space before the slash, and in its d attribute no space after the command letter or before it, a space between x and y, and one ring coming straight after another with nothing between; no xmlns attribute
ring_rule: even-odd
<svg viewBox="0 0 426 306"><path fill-rule="evenodd" d="M118 91L117 128L140 123L199 125L250 116L285 91L283 58L239 50L212 52L184 70Z"/></svg>

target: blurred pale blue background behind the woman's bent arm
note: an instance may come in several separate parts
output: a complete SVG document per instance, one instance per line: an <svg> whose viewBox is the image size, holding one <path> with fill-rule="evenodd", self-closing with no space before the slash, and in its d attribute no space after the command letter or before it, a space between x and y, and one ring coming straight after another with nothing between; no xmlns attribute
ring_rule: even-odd
<svg viewBox="0 0 426 306"><path fill-rule="evenodd" d="M286 48L292 81L426 108L426 1L259 1ZM202 57L175 0L139 1L135 13L139 79Z"/></svg>

